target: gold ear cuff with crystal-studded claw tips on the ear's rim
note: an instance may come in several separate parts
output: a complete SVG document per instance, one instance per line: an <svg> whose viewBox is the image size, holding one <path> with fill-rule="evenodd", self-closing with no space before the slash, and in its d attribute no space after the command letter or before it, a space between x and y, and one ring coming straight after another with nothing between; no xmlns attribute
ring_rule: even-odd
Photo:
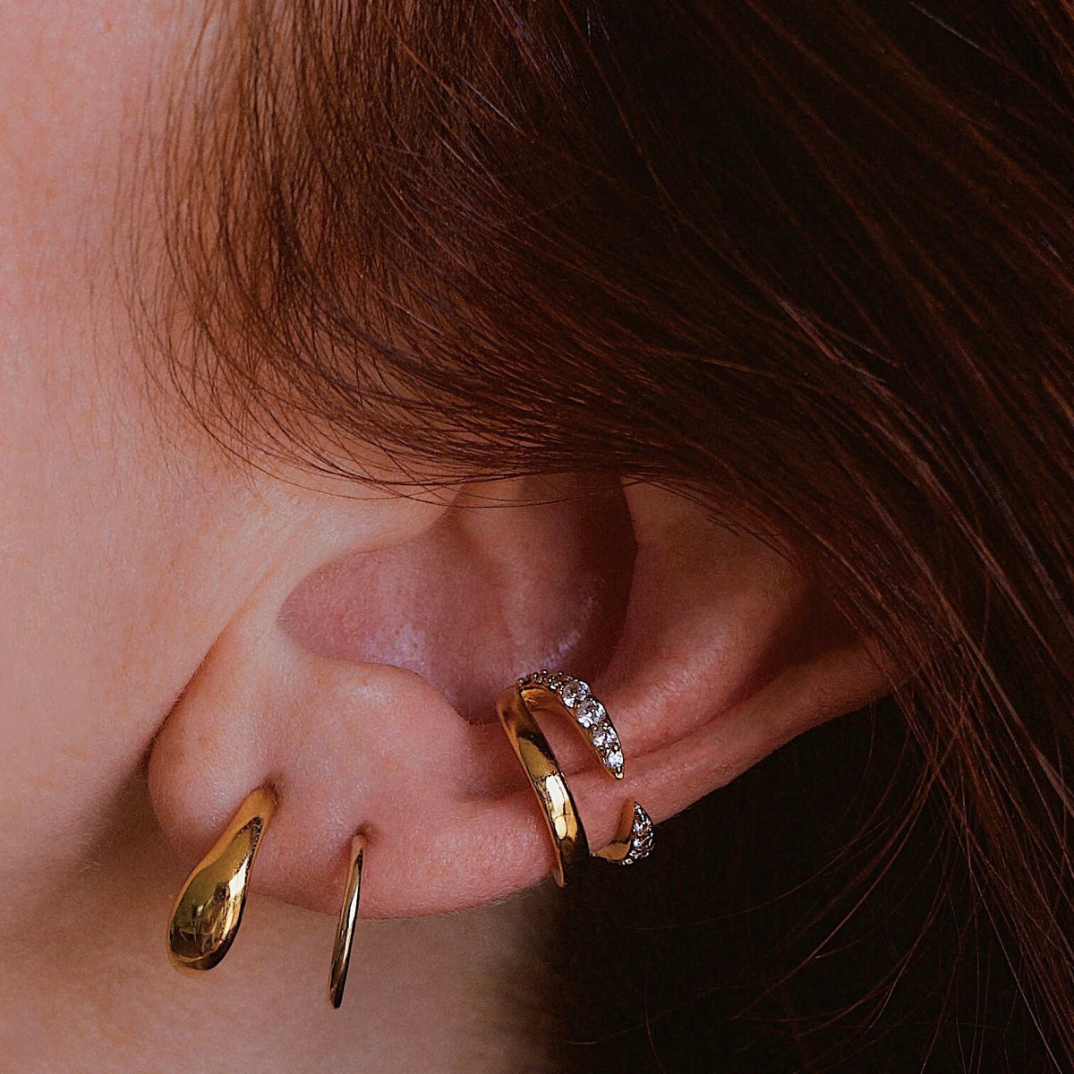
<svg viewBox="0 0 1074 1074"><path fill-rule="evenodd" d="M578 807L560 763L537 723L537 715L567 716L581 732L600 767L623 779L623 746L608 711L581 679L555 671L535 671L499 695L496 712L540 803L555 851L553 875L563 887L589 860L590 847ZM640 861L653 848L653 822L629 799L615 838L596 852L618 865Z"/></svg>

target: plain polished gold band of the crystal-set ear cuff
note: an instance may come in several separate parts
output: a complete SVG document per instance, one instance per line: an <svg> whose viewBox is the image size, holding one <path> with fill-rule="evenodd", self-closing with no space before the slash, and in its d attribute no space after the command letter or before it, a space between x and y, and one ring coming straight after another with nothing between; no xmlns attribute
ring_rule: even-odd
<svg viewBox="0 0 1074 1074"><path fill-rule="evenodd" d="M527 706L529 701L535 710L540 710L542 699L536 696L537 688L527 691L526 694L526 698L523 698L522 691L517 685L508 687L499 695L496 711L540 802L555 850L553 875L555 882L563 887L576 869L589 858L590 847L563 770Z"/></svg>

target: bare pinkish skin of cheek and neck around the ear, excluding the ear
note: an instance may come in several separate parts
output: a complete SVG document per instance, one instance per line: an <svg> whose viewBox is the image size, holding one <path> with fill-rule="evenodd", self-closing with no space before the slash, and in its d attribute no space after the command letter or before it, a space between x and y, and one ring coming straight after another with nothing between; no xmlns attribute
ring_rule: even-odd
<svg viewBox="0 0 1074 1074"><path fill-rule="evenodd" d="M490 982L540 931L532 899L386 926L348 990L364 1019L328 1027L330 921L251 908L208 1008L164 958L184 868L137 785L158 729L280 562L301 577L347 550L333 541L389 547L442 510L330 510L340 497L240 473L145 405L114 281L115 191L150 76L176 39L189 52L203 11L0 0L0 1066L178 1070L195 1040L236 1069L256 1053L281 1071L313 1054L432 1070L488 1034Z"/></svg>

